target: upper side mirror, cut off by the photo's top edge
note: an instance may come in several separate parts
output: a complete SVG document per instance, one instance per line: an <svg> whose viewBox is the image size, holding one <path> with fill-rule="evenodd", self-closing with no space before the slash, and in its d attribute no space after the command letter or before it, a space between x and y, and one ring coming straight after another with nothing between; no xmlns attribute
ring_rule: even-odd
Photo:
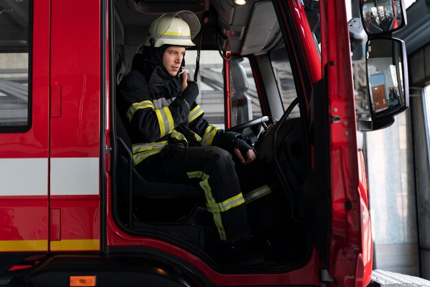
<svg viewBox="0 0 430 287"><path fill-rule="evenodd" d="M361 21L368 35L395 32L406 23L403 0L361 0Z"/></svg>

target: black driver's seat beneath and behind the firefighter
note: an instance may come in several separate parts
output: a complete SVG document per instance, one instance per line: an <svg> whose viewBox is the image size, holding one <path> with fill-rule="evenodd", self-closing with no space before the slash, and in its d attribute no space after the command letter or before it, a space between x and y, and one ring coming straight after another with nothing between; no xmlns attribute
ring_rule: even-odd
<svg viewBox="0 0 430 287"><path fill-rule="evenodd" d="M127 209L127 225L133 227L136 220L155 225L185 225L199 205L201 189L168 179L144 178L133 167L131 140L116 108L115 126L117 188L125 200L122 208Z"/></svg>

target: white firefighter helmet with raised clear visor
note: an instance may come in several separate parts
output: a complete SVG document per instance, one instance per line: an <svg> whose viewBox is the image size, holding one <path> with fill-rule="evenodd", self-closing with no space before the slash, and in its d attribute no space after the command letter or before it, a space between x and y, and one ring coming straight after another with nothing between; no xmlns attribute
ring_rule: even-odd
<svg viewBox="0 0 430 287"><path fill-rule="evenodd" d="M199 18L191 11L166 13L152 21L144 45L194 46L192 39L199 33L200 27Z"/></svg>

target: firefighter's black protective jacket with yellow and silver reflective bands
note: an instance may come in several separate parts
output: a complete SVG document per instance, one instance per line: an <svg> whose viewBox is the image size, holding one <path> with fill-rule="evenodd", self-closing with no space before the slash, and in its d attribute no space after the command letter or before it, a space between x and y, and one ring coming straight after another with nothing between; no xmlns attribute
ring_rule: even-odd
<svg viewBox="0 0 430 287"><path fill-rule="evenodd" d="M231 152L237 133L203 119L203 109L181 97L181 79L137 54L117 89L117 106L133 143L135 165L172 145L219 146Z"/></svg>

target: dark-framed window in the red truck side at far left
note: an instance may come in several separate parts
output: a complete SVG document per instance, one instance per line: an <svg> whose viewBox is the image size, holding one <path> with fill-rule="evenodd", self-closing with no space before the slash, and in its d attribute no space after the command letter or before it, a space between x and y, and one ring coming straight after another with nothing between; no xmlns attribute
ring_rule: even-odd
<svg viewBox="0 0 430 287"><path fill-rule="evenodd" d="M29 1L0 0L0 130L29 126ZM20 129L21 128L21 129Z"/></svg>

